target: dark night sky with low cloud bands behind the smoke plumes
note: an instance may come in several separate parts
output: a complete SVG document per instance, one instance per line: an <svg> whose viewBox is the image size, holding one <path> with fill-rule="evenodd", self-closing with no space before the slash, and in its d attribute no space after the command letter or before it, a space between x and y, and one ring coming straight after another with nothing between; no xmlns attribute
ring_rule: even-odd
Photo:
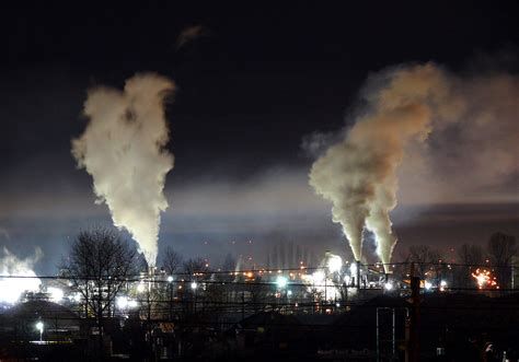
<svg viewBox="0 0 519 362"><path fill-rule="evenodd" d="M325 209L304 210L311 199L254 200L303 187L312 163L303 138L341 129L369 74L429 60L469 72L487 57L517 71L516 1L9 3L0 9L0 245L21 256L42 245L39 268L48 272L77 230L109 222L106 207L93 206L90 176L70 156L90 86L122 87L142 71L175 81L168 108L175 168L161 243L219 258L231 238L344 247ZM178 47L191 26L201 34ZM235 213L250 219L210 211L221 205L238 205ZM519 236L515 201L395 212L403 245L484 243L497 230ZM201 250L207 240L220 244Z"/></svg>

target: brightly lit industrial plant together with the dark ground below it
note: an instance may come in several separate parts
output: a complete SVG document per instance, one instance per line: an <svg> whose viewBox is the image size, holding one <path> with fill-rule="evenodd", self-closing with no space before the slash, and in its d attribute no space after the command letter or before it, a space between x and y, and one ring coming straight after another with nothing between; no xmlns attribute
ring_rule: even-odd
<svg viewBox="0 0 519 362"><path fill-rule="evenodd" d="M437 361L469 355L457 343L482 336L485 346L514 353L515 337L491 326L494 318L509 328L518 322L510 310L518 302L515 279L498 284L499 268L489 264L395 261L383 268L331 252L316 266L300 260L282 269L177 261L173 272L164 259L125 276L66 269L45 278L2 276L2 359L389 361L408 360L419 346ZM515 277L516 268L507 269ZM435 317L436 308L445 315ZM482 311L492 314L491 324ZM430 329L430 318L441 325Z"/></svg>

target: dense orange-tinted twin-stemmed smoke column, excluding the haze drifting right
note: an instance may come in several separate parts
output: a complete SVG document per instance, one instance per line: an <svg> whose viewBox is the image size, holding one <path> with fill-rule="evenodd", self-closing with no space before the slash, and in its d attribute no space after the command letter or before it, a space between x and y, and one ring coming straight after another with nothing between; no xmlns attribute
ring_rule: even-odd
<svg viewBox="0 0 519 362"><path fill-rule="evenodd" d="M342 224L355 259L361 260L368 229L387 268L396 243L389 217L396 207L396 170L406 144L427 137L432 108L440 108L434 105L443 104L448 84L432 65L393 70L374 83L367 92L367 112L315 161L310 184L332 201L333 220Z"/></svg>

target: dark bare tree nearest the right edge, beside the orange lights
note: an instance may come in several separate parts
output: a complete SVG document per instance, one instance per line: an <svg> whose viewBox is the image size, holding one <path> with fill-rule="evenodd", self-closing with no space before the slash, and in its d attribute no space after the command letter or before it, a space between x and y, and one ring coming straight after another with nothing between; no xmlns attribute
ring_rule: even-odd
<svg viewBox="0 0 519 362"><path fill-rule="evenodd" d="M517 254L516 237L494 233L488 241L488 255L496 266L497 282L507 288L511 280L511 259Z"/></svg>

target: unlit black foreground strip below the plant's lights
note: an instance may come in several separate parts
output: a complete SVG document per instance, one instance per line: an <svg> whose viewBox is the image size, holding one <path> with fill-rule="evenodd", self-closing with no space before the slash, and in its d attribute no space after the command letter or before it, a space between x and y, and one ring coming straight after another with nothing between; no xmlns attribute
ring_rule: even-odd
<svg viewBox="0 0 519 362"><path fill-rule="evenodd" d="M405 361L414 348L420 361L518 361L517 293L423 295L418 346L410 346L410 310L389 295L311 313L184 310L170 320L105 319L100 334L93 319L32 301L0 315L0 361ZM45 323L42 336L34 320Z"/></svg>

